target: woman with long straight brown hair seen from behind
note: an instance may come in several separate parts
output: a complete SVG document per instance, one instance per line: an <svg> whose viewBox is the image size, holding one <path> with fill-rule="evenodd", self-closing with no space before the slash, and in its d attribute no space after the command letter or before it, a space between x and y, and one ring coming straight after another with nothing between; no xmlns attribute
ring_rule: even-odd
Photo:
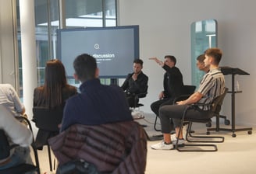
<svg viewBox="0 0 256 174"><path fill-rule="evenodd" d="M62 62L53 59L46 62L44 85L34 89L33 106L42 106L49 110L64 110L66 100L76 93L76 87L67 83ZM51 132L39 129L36 137L37 148L41 149L47 143L48 137L52 136Z"/></svg>

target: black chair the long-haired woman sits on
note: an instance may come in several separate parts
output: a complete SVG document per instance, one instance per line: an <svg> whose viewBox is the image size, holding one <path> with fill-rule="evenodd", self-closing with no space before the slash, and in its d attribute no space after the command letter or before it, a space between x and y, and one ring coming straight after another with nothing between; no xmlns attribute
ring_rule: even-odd
<svg viewBox="0 0 256 174"><path fill-rule="evenodd" d="M49 166L50 171L52 171L52 155L51 155L51 148L48 144L48 138L54 137L55 135L59 134L59 124L62 123L63 117L63 109L62 107L58 107L56 109L48 109L46 107L36 106L33 108L33 121L39 131L44 131L47 135L46 137L43 136L43 140L39 134L36 137L36 144L37 141L48 147L48 159L49 159ZM38 145L37 145L38 148Z"/></svg>

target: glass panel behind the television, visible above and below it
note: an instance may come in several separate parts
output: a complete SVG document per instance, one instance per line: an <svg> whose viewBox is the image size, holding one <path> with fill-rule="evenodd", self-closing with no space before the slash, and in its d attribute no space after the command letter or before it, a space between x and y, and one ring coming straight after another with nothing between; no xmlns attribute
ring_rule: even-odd
<svg viewBox="0 0 256 174"><path fill-rule="evenodd" d="M66 0L65 4L66 28L116 26L116 0ZM102 84L108 85L110 82L109 78L101 79ZM70 77L69 83L80 85Z"/></svg>

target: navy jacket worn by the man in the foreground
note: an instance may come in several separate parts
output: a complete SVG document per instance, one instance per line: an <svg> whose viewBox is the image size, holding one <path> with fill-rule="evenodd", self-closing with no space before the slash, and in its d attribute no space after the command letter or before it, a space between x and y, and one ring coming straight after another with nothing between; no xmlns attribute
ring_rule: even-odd
<svg viewBox="0 0 256 174"><path fill-rule="evenodd" d="M98 125L133 120L126 97L117 85L94 78L80 85L80 94L67 100L61 131L73 124Z"/></svg>

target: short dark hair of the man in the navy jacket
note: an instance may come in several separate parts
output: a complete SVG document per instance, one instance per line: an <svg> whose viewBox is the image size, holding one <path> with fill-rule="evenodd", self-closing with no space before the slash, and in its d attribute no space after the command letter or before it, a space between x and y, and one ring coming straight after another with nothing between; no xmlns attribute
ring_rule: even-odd
<svg viewBox="0 0 256 174"><path fill-rule="evenodd" d="M89 54L80 54L73 62L73 68L81 82L95 78L97 62L94 57Z"/></svg>

